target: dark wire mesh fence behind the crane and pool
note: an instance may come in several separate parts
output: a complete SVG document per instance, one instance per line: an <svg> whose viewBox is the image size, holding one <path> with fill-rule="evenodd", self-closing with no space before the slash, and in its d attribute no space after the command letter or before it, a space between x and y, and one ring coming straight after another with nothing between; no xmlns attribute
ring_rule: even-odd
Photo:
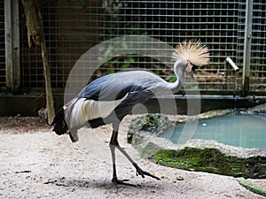
<svg viewBox="0 0 266 199"><path fill-rule="evenodd" d="M250 89L265 91L266 3L254 0L253 12ZM218 94L238 92L242 81L245 16L246 0L90 0L86 8L77 0L48 0L43 5L43 27L50 54L52 87L65 88L69 72L86 50L115 37L137 34L173 47L184 40L200 40L211 54L210 65L196 71L200 90ZM40 50L28 49L21 5L20 55L21 88L44 88ZM226 63L226 57L231 57L239 66L239 73ZM94 79L130 68L147 69L165 80L175 80L166 65L139 55L113 57L91 75ZM0 78L1 71L3 76L2 66ZM2 81L4 79L0 84ZM199 89L192 82L186 87Z"/></svg>

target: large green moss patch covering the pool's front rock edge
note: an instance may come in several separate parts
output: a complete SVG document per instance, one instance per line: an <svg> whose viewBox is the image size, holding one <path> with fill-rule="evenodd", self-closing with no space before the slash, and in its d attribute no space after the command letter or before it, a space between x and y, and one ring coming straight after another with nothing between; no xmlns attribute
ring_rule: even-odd
<svg viewBox="0 0 266 199"><path fill-rule="evenodd" d="M198 172L213 172L245 178L266 178L265 158L228 157L218 149L184 148L181 150L160 149L153 155L159 165L166 165Z"/></svg>

